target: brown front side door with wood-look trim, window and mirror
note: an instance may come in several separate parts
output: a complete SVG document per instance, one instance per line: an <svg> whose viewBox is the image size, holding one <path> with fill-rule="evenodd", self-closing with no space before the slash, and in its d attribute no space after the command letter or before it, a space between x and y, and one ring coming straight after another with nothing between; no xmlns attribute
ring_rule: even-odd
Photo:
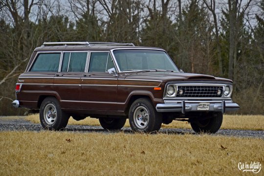
<svg viewBox="0 0 264 176"><path fill-rule="evenodd" d="M115 68L110 52L90 52L88 72L81 79L82 109L117 110L117 76L110 68Z"/></svg>

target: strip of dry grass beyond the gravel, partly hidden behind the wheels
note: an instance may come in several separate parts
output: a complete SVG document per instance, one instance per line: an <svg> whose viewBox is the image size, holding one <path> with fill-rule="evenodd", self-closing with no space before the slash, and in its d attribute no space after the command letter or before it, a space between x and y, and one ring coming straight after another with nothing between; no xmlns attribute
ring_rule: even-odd
<svg viewBox="0 0 264 176"><path fill-rule="evenodd" d="M26 117L33 123L40 123L39 114L33 114ZM100 126L99 120L94 118L86 118L76 121L69 119L68 125L92 125ZM127 120L125 127L130 127ZM162 124L161 128L187 128L191 126L188 122L173 121L169 125ZM236 129L236 130L264 130L264 115L224 115L221 129Z"/></svg>

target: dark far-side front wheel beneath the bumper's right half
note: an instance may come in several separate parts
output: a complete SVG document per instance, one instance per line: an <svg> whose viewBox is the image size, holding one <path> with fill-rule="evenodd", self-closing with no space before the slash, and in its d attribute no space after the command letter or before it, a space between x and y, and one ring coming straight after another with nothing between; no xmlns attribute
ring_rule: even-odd
<svg viewBox="0 0 264 176"><path fill-rule="evenodd" d="M190 122L193 130L197 133L206 132L206 133L216 133L223 121L223 114L221 112L214 113L210 118L204 120L196 120Z"/></svg>

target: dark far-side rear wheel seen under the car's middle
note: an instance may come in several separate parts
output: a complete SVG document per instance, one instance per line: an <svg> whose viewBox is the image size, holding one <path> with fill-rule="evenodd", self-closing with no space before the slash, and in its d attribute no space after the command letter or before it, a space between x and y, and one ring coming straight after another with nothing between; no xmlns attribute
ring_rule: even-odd
<svg viewBox="0 0 264 176"><path fill-rule="evenodd" d="M120 130L126 123L126 118L99 118L101 126L106 130Z"/></svg>

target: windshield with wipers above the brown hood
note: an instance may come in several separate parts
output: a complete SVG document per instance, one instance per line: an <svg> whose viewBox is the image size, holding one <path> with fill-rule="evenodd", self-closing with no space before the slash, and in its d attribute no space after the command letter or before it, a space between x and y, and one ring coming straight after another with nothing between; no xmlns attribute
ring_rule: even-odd
<svg viewBox="0 0 264 176"><path fill-rule="evenodd" d="M119 49L113 51L120 71L177 71L166 52L150 49Z"/></svg>

